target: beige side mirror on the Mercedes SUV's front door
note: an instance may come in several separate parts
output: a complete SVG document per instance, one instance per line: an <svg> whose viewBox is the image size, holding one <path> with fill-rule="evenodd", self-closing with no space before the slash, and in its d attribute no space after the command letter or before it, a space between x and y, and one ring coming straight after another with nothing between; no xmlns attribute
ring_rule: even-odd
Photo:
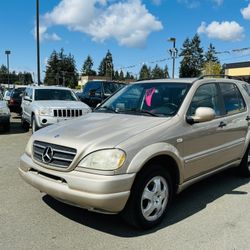
<svg viewBox="0 0 250 250"><path fill-rule="evenodd" d="M215 111L208 107L199 107L195 110L194 116L187 117L186 121L189 124L208 122L215 118Z"/></svg>

